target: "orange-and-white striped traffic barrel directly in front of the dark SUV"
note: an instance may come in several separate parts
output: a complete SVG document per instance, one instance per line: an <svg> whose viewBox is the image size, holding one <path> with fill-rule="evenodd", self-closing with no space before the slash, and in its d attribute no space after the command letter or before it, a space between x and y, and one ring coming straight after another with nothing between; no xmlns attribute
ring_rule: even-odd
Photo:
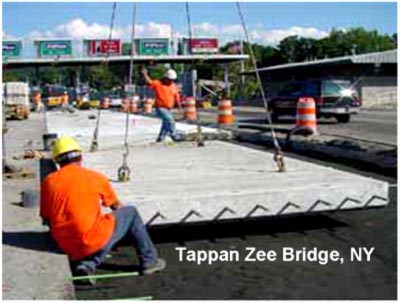
<svg viewBox="0 0 400 303"><path fill-rule="evenodd" d="M313 98L299 98L296 128L309 128L314 134L317 133L317 110Z"/></svg>

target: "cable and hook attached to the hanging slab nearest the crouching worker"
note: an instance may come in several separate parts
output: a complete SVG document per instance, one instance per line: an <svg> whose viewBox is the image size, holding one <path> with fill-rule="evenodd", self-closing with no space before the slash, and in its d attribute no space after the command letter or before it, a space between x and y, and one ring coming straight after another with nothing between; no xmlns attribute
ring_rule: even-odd
<svg viewBox="0 0 400 303"><path fill-rule="evenodd" d="M132 87L132 77L133 77L133 58L136 55L136 47L135 47L135 24L136 24L136 13L137 7L136 2L133 3L133 19L132 19L132 36L131 36L131 58L129 62L129 89ZM129 104L132 102L133 93L129 92ZM128 135L129 135L129 110L126 110L126 119L125 119L125 138L124 138L124 147L125 153L123 154L122 165L118 169L118 180L120 182L126 182L130 179L131 169L128 166L128 156L129 156L129 144L128 144Z"/></svg>

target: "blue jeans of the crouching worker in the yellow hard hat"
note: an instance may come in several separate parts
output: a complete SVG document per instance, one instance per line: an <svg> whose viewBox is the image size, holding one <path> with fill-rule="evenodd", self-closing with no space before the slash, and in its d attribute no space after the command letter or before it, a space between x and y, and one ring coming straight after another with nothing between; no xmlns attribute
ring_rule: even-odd
<svg viewBox="0 0 400 303"><path fill-rule="evenodd" d="M71 262L73 268L84 264L92 270L95 270L96 267L104 261L106 255L111 251L113 246L125 236L129 236L129 239L132 241L142 268L153 265L157 260L157 251L151 242L146 226L143 224L136 207L121 207L114 211L113 215L115 216L115 229L108 243L94 254L82 260Z"/></svg>

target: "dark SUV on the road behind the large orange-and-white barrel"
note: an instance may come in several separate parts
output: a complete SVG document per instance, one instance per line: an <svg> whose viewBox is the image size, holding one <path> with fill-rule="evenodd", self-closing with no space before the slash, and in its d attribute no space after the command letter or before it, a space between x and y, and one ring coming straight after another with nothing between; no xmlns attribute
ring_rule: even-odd
<svg viewBox="0 0 400 303"><path fill-rule="evenodd" d="M296 115L297 102L301 97L314 98L317 117L334 117L339 123L348 123L361 107L358 93L349 80L315 79L294 81L268 101L273 121L279 116Z"/></svg>

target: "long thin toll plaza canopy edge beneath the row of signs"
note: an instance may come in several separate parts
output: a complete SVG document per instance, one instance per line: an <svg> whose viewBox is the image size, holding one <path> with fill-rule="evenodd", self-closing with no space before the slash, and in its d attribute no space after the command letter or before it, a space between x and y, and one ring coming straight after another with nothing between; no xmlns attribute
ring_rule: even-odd
<svg viewBox="0 0 400 303"><path fill-rule="evenodd" d="M248 55L173 55L173 56L134 56L134 63L231 63L235 61L248 60ZM44 67L44 66L81 66L98 65L108 62L111 64L128 64L131 56L110 56L105 57L60 57L60 58L31 58L15 59L3 58L3 68L26 68L26 67Z"/></svg>

